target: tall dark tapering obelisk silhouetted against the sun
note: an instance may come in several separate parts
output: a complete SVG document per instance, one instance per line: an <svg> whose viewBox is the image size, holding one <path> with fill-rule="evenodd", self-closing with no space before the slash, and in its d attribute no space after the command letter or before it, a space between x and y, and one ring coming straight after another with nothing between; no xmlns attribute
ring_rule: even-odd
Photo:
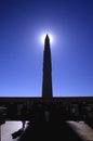
<svg viewBox="0 0 93 141"><path fill-rule="evenodd" d="M51 49L50 38L46 35L44 40L43 52L43 78L42 78L42 98L52 98L52 62L51 62Z"/></svg>

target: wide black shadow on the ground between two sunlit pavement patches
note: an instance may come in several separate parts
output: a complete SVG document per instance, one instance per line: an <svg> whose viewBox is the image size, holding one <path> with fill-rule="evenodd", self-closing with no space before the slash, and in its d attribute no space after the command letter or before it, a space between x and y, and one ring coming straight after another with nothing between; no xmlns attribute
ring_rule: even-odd
<svg viewBox="0 0 93 141"><path fill-rule="evenodd" d="M65 121L29 124L17 141L83 141Z"/></svg>

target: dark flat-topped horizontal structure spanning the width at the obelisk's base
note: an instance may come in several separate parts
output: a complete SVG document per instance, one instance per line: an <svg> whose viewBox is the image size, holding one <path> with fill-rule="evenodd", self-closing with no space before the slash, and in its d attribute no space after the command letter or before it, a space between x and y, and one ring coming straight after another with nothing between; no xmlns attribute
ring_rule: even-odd
<svg viewBox="0 0 93 141"><path fill-rule="evenodd" d="M22 112L24 103L26 108ZM34 114L40 115L41 118L44 113L46 119L51 114L56 119L61 116L59 118L63 120L84 120L93 126L93 98L3 98L0 99L0 105L4 105L6 108L6 120L22 120L23 118L31 120L37 117L34 117ZM25 114L22 115L22 113Z"/></svg>

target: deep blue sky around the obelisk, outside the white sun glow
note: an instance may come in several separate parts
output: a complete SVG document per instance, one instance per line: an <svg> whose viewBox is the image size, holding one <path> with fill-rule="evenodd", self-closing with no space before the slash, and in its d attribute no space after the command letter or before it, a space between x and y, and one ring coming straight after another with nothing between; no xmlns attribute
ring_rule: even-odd
<svg viewBox="0 0 93 141"><path fill-rule="evenodd" d="M45 31L53 95L93 95L93 0L0 0L0 97L41 97Z"/></svg>

